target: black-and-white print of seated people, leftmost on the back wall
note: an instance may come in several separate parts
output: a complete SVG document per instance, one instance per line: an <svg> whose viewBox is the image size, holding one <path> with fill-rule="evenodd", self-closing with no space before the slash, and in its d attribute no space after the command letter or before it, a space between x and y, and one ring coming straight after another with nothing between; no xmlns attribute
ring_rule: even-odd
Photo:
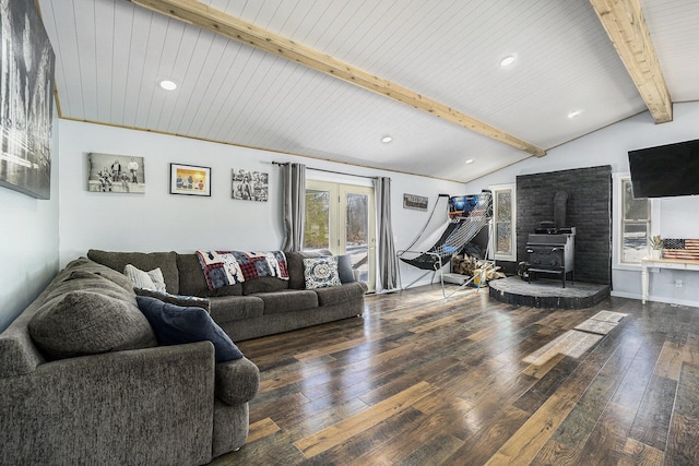
<svg viewBox="0 0 699 466"><path fill-rule="evenodd" d="M132 155L87 154L87 191L145 192L145 163Z"/></svg>

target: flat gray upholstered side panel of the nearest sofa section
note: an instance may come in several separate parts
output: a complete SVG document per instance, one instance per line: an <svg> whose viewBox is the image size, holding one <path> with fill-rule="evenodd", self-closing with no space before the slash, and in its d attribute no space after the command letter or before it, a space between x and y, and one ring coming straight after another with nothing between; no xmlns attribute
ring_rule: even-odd
<svg viewBox="0 0 699 466"><path fill-rule="evenodd" d="M211 342L61 359L0 378L0 463L204 464ZM11 446L10 446L11 445Z"/></svg>

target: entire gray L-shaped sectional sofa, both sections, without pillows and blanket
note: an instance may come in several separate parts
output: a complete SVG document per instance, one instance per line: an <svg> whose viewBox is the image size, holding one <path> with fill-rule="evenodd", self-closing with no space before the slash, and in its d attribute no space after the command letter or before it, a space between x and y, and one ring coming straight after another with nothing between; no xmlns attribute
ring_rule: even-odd
<svg viewBox="0 0 699 466"><path fill-rule="evenodd" d="M261 277L211 291L194 254L91 250L67 265L0 334L0 464L197 465L237 450L257 366L215 362L210 342L157 346L126 264L159 267L167 291L208 297L234 342L364 311L366 287L304 289Z"/></svg>

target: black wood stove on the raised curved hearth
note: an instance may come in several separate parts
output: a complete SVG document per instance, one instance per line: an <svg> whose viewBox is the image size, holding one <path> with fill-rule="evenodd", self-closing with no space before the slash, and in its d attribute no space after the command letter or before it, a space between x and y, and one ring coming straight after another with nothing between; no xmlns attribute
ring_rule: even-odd
<svg viewBox="0 0 699 466"><path fill-rule="evenodd" d="M537 274L559 275L566 287L566 275L574 282L576 227L553 227L542 222L526 242L526 278L531 283Z"/></svg>

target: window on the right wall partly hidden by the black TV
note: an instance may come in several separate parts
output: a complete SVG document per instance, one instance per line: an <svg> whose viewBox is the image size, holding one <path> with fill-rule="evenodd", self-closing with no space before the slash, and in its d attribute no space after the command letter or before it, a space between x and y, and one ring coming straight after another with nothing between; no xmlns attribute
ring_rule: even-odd
<svg viewBox="0 0 699 466"><path fill-rule="evenodd" d="M633 199L630 178L621 178L621 225L619 262L638 264L648 255L648 238L651 236L651 201Z"/></svg>

